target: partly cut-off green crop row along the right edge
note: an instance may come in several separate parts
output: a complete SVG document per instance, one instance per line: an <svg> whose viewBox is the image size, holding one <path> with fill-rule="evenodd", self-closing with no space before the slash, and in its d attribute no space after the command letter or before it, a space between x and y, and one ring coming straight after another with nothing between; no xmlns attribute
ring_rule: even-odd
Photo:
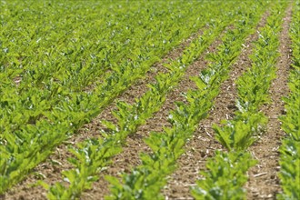
<svg viewBox="0 0 300 200"><path fill-rule="evenodd" d="M280 147L280 174L283 193L278 199L300 199L300 2L294 3L290 37L293 62L289 76L290 94L285 97L286 114L281 117L286 137Z"/></svg>

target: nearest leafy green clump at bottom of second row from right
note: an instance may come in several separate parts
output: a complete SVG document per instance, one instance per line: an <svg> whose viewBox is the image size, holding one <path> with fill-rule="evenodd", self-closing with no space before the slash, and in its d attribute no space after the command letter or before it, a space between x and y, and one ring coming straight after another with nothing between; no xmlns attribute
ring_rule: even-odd
<svg viewBox="0 0 300 200"><path fill-rule="evenodd" d="M245 199L245 173L256 163L248 153L216 151L215 157L207 161L208 171L201 173L204 178L197 181L192 195L195 199Z"/></svg>

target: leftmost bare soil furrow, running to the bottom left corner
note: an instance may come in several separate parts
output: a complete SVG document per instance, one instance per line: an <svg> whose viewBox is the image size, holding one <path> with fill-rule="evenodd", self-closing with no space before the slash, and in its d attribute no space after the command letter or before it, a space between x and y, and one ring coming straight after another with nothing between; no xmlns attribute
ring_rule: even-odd
<svg viewBox="0 0 300 200"><path fill-rule="evenodd" d="M130 86L125 93L120 95L115 102L117 100L122 100L126 103L133 104L135 102L135 98L143 95L148 89L146 85L155 82L155 75L167 72L164 64L170 59L175 59L182 55L185 46L189 45L196 36L199 36L202 33L203 30L200 30L198 33L186 38L181 45L178 45L170 53L165 55L160 63L153 65L143 79L136 81L135 84ZM67 150L67 145L75 145L87 138L99 136L100 132L105 128L100 123L103 119L116 123L115 117L112 115L112 111L116 109L115 102L105 107L104 111L100 115L96 116L90 123L79 129L75 135L72 135L72 137L65 142L65 144L57 146L54 154L50 155L45 163L36 166L32 175L28 175L23 182L15 185L15 187L5 194L5 199L45 199L46 191L44 188L41 186L31 187L30 185L35 184L39 179L43 179L43 181L47 184L54 184L56 181L62 180L61 173L64 170L73 168L73 166L66 160L67 157L72 156ZM85 197L86 199L90 199L88 195ZM98 197L95 196L95 199L98 199Z"/></svg>

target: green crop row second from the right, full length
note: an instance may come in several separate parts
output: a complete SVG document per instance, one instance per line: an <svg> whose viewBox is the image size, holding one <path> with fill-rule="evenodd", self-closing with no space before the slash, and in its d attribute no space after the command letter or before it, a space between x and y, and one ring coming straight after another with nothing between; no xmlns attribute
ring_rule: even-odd
<svg viewBox="0 0 300 200"><path fill-rule="evenodd" d="M228 152L216 151L215 157L207 161L208 171L202 173L204 178L192 190L196 199L245 199L246 172L257 162L246 150L267 123L266 116L259 109L269 102L268 89L275 78L279 34L286 5L272 5L266 25L259 30L259 38L250 55L252 67L236 81L238 110L235 118L225 120L221 127L214 125L217 141Z"/></svg>

